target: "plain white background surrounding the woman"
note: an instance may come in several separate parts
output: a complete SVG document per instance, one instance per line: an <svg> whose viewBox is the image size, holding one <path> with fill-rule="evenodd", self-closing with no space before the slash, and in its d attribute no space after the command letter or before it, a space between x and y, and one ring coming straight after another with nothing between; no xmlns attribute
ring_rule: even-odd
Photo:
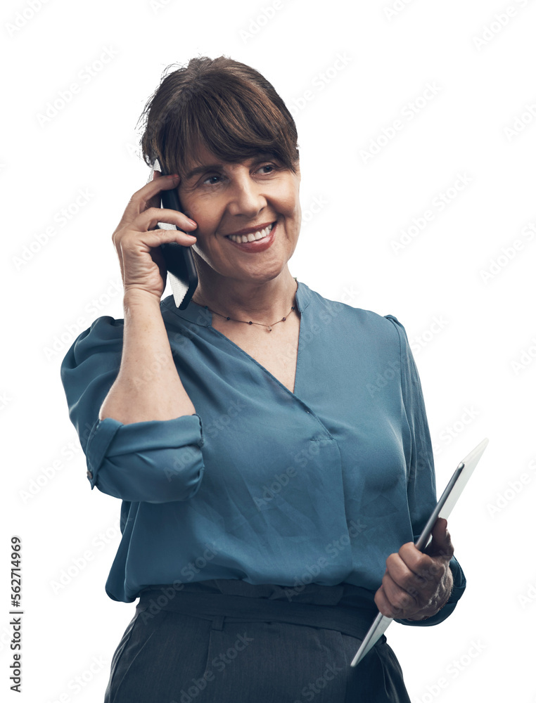
<svg viewBox="0 0 536 703"><path fill-rule="evenodd" d="M438 489L490 438L449 520L464 597L439 626L387 633L411 699L535 701L536 2L32 1L4 3L0 22L1 695L100 701L134 614L104 591L120 502L89 490L60 361L96 317L122 317L111 234L148 178L143 105L170 64L225 54L260 70L298 125L305 223L293 276L407 330ZM77 206L79 191L89 195ZM426 210L433 219L395 252ZM8 690L13 534L23 541L18 697Z"/></svg>

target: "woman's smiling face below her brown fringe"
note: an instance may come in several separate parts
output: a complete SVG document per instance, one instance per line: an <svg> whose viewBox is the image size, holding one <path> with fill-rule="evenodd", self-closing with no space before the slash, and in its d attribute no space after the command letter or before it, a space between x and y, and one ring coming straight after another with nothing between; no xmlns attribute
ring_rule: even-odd
<svg viewBox="0 0 536 703"><path fill-rule="evenodd" d="M203 148L178 189L182 212L198 225L193 250L220 276L272 280L298 243L299 191L299 171L270 154L231 164ZM255 241L243 243L244 232Z"/></svg>

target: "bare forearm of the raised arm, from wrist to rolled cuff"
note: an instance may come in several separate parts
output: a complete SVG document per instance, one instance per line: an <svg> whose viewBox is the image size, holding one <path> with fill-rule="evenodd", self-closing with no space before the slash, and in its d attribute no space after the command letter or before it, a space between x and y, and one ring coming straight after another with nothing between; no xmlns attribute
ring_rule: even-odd
<svg viewBox="0 0 536 703"><path fill-rule="evenodd" d="M124 425L172 420L196 413L182 385L160 311L151 293L125 293L121 366L103 401L99 419Z"/></svg>

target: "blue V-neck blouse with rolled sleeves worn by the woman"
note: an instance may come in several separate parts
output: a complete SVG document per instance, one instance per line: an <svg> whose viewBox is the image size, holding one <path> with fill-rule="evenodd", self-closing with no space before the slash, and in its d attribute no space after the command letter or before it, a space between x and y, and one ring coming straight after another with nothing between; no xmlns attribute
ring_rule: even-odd
<svg viewBox="0 0 536 703"><path fill-rule="evenodd" d="M191 302L160 309L195 415L98 420L120 367L122 319L102 316L61 365L91 489L122 500L106 593L210 579L381 584L385 559L419 536L436 503L432 446L409 342L392 315L298 283L291 392ZM148 376L158 373L148 361ZM454 610L465 577L451 561ZM404 624L409 621L401 620ZM418 623L413 623L418 624Z"/></svg>

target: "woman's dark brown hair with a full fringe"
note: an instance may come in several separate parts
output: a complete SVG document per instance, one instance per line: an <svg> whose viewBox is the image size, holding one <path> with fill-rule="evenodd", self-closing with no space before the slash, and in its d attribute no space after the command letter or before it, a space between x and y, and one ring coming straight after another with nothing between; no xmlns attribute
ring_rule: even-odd
<svg viewBox="0 0 536 703"><path fill-rule="evenodd" d="M158 159L163 172L184 176L196 150L205 146L231 163L269 152L296 172L293 117L254 68L226 56L200 56L164 75L140 117L146 120L140 146L147 165Z"/></svg>

